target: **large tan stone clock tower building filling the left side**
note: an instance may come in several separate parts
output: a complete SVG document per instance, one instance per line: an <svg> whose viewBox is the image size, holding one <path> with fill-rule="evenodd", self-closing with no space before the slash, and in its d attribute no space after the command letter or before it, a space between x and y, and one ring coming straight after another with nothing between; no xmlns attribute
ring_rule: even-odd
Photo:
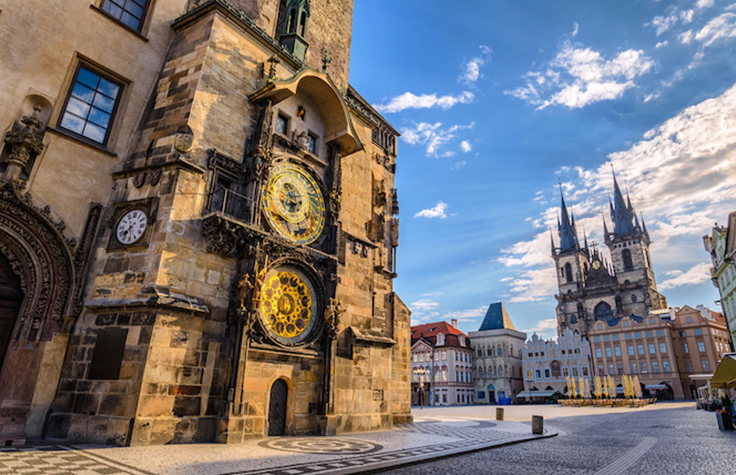
<svg viewBox="0 0 736 475"><path fill-rule="evenodd" d="M2 20L0 442L411 420L398 134L348 83L352 0Z"/></svg>

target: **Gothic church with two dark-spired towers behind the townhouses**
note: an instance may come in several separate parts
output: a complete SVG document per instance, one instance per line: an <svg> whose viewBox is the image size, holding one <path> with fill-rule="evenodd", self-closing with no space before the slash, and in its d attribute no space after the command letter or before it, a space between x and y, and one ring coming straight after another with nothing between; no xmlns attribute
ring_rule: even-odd
<svg viewBox="0 0 736 475"><path fill-rule="evenodd" d="M624 200L615 175L613 194L613 202L609 199L612 231L605 216L603 219L609 259L601 255L597 244L588 244L587 236L580 243L575 217L568 212L562 197L562 219L557 220L559 247L551 236L559 288L555 298L560 334L570 328L586 336L596 320L645 317L652 309L667 307L654 281L649 255L651 241L644 219L640 221L637 217L628 193Z"/></svg>

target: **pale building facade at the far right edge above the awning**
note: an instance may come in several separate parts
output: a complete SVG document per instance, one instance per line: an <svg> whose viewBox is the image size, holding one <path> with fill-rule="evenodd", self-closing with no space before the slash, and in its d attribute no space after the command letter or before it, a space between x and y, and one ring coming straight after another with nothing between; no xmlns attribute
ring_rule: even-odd
<svg viewBox="0 0 736 475"><path fill-rule="evenodd" d="M726 316L733 351L736 348L736 213L729 214L726 226L715 225L710 236L703 236L703 244L710 253L711 280L721 294L721 309Z"/></svg>

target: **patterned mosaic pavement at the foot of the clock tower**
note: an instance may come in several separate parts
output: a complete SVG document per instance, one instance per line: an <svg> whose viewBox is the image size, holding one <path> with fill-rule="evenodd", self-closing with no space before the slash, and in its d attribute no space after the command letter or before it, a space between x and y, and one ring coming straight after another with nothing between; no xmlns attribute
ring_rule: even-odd
<svg viewBox="0 0 736 475"><path fill-rule="evenodd" d="M489 412L486 408L485 412ZM392 431L339 437L268 437L238 445L0 448L0 475L347 474L535 440L528 423L420 413ZM545 437L553 432L548 431Z"/></svg>

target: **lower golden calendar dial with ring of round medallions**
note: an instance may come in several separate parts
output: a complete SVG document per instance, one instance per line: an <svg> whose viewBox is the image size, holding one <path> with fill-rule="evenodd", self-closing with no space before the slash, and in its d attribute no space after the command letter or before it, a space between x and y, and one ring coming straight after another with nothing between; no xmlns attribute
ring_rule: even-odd
<svg viewBox="0 0 736 475"><path fill-rule="evenodd" d="M263 328L277 342L297 345L309 339L317 306L314 286L296 267L276 267L263 279L259 314Z"/></svg>

